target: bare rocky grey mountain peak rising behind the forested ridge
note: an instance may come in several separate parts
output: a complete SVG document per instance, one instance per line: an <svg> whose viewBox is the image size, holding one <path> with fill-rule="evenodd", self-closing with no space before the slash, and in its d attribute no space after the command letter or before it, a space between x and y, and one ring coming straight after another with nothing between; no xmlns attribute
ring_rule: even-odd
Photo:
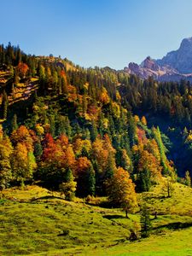
<svg viewBox="0 0 192 256"><path fill-rule="evenodd" d="M185 79L192 82L192 38L184 38L179 49L167 53L160 60L148 56L140 65L129 63L125 72L136 74L142 79L153 76L159 81Z"/></svg>

